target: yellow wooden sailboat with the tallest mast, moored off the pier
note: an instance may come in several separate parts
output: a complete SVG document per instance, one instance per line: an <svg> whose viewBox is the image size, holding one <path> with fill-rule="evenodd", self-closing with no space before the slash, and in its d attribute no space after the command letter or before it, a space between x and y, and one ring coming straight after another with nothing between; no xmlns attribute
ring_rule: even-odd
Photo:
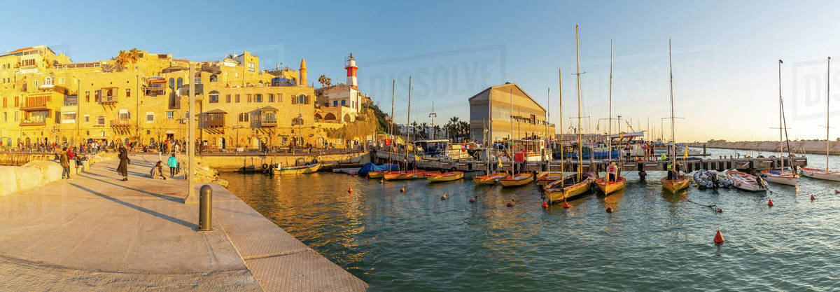
<svg viewBox="0 0 840 292"><path fill-rule="evenodd" d="M578 45L578 25L575 24L575 51L577 54L577 95L578 95L578 128L580 128L580 46ZM558 70L559 81L562 84L562 70ZM561 91L562 92L562 91ZM563 95L560 95L560 137L563 137ZM581 161L583 157L583 133L578 131L578 169L576 174L565 176L565 159L563 157L563 141L560 141L560 176L562 180L555 180L545 185L545 197L549 203L566 201L575 196L585 194L590 190L596 175L592 172L583 174Z"/></svg>

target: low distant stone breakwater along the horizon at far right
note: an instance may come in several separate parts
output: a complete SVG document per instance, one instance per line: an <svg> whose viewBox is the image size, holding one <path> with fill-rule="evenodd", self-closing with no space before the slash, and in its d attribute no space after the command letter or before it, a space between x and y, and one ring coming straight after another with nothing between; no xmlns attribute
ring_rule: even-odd
<svg viewBox="0 0 840 292"><path fill-rule="evenodd" d="M753 151L779 152L779 141L739 141L739 142L706 142L687 143L689 147L720 148L720 149L743 149ZM787 142L783 143L785 152L794 154L826 154L826 141L790 141L790 149ZM828 141L828 153L840 155L840 143Z"/></svg>

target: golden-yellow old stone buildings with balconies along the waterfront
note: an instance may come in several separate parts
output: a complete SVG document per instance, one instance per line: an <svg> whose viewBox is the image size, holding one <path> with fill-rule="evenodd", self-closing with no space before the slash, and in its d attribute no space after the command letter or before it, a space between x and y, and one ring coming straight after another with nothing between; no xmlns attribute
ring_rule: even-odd
<svg viewBox="0 0 840 292"><path fill-rule="evenodd" d="M197 136L209 149L332 142L315 123L306 70L260 70L244 52L193 62L142 50L72 63L45 46L0 55L0 145L186 139L196 86ZM190 76L190 65L195 71Z"/></svg>

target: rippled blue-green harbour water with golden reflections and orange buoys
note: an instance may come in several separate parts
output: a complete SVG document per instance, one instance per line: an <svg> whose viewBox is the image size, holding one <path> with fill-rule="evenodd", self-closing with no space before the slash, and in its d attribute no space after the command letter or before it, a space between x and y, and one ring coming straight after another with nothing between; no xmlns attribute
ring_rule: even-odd
<svg viewBox="0 0 840 292"><path fill-rule="evenodd" d="M810 167L824 167L824 156L806 156ZM840 169L840 157L829 164ZM771 184L767 194L691 186L672 195L659 185L663 175L649 171L641 181L633 171L620 193L592 193L570 209L548 210L536 185L221 176L372 291L840 289L840 183L802 177L798 187ZM769 198L775 206L767 206ZM506 206L511 200L515 206ZM718 228L722 245L712 242Z"/></svg>

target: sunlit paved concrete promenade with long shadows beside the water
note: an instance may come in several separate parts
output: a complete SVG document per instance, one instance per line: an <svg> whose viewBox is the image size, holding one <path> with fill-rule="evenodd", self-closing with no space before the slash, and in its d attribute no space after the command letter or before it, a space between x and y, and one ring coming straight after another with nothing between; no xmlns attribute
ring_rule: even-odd
<svg viewBox="0 0 840 292"><path fill-rule="evenodd" d="M131 159L126 182L111 159L0 196L0 291L367 288L220 185L211 184L214 230L197 232L186 181L148 178L156 154Z"/></svg>

